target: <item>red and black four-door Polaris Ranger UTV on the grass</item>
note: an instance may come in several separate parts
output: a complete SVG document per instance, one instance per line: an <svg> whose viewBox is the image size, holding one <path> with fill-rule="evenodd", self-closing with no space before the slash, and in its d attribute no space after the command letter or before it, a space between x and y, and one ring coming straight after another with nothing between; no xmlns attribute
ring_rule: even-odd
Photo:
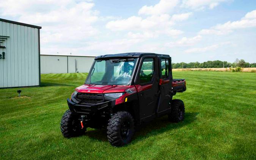
<svg viewBox="0 0 256 160"><path fill-rule="evenodd" d="M87 127L107 128L113 146L130 143L135 126L168 115L172 122L184 119L184 79L173 79L171 57L155 53L121 53L97 56L85 84L67 99L62 116L64 137L82 135Z"/></svg>

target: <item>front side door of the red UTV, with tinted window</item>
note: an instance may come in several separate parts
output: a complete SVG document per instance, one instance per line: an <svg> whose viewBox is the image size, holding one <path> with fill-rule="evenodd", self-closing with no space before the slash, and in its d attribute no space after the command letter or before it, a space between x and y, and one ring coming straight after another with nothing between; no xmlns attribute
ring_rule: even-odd
<svg viewBox="0 0 256 160"><path fill-rule="evenodd" d="M141 121L155 117L159 90L159 71L156 56L143 56L135 78Z"/></svg>

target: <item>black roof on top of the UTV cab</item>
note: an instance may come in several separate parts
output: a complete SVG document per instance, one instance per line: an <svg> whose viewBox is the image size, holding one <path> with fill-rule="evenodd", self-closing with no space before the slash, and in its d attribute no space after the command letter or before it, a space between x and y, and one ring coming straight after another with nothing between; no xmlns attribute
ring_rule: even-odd
<svg viewBox="0 0 256 160"><path fill-rule="evenodd" d="M113 54L113 55L101 55L97 56L96 59L101 59L101 58L111 58L111 57L141 57L144 55L159 55L159 56L166 56L170 57L169 55L162 55L162 54L156 54L156 53L144 53L144 52L133 52L133 53L118 53L118 54Z"/></svg>

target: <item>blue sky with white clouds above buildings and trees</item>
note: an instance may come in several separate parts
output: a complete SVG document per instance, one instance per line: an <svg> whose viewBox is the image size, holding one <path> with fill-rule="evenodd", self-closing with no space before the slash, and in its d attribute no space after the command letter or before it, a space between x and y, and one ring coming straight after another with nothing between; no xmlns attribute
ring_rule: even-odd
<svg viewBox="0 0 256 160"><path fill-rule="evenodd" d="M0 0L0 18L41 26L41 54L256 62L255 0Z"/></svg>

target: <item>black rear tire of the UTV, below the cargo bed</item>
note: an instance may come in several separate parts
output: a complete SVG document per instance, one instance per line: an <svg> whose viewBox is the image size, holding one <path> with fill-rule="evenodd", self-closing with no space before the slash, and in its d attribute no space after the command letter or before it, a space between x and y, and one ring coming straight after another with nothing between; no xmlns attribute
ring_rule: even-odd
<svg viewBox="0 0 256 160"><path fill-rule="evenodd" d="M185 118L185 105L180 99L171 101L171 113L168 114L168 119L171 122L180 122Z"/></svg>

